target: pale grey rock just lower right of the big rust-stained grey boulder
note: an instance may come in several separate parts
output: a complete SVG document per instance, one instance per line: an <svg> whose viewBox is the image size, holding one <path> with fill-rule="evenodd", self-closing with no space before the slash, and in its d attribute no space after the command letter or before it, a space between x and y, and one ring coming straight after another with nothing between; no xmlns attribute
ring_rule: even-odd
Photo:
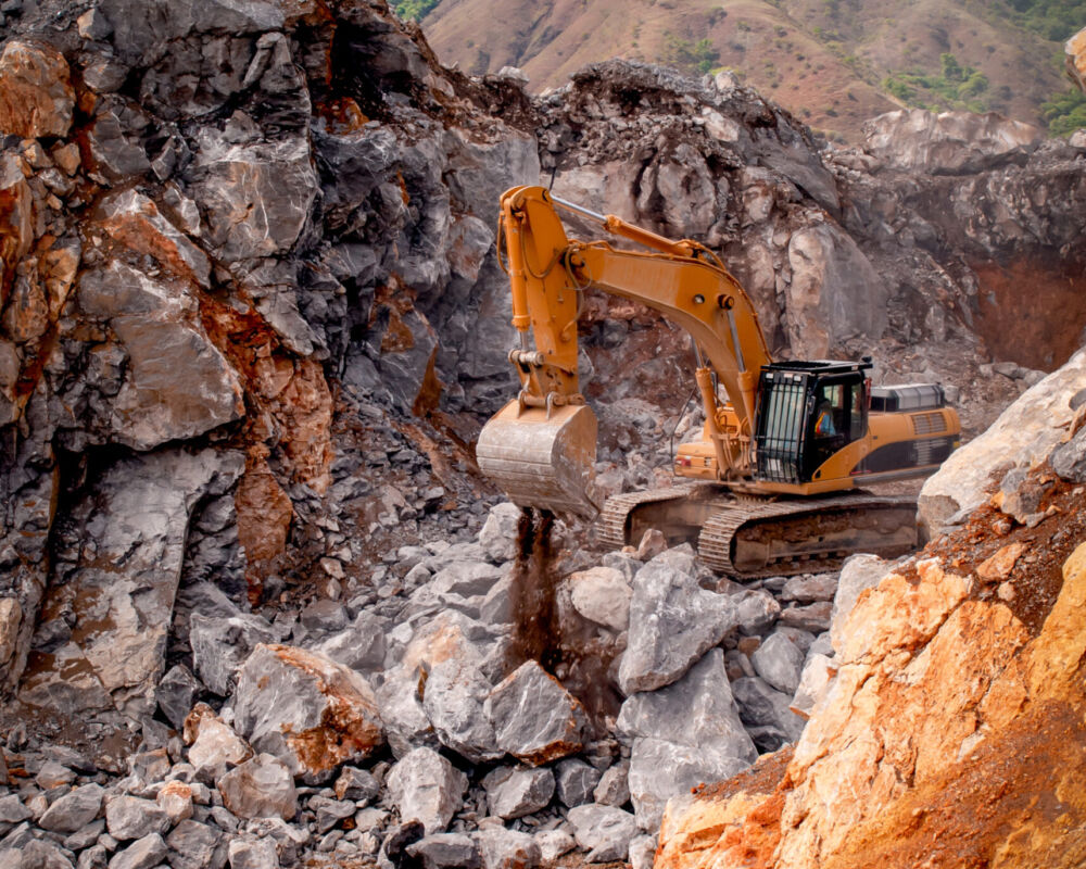
<svg viewBox="0 0 1086 869"><path fill-rule="evenodd" d="M427 835L444 832L463 805L467 777L431 748L415 748L389 771L389 795L402 820L417 820Z"/></svg>

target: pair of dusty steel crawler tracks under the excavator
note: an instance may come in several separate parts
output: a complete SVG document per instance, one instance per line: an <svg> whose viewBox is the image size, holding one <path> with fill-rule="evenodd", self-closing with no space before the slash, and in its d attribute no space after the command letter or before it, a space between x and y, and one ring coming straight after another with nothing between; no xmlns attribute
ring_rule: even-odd
<svg viewBox="0 0 1086 869"><path fill-rule="evenodd" d="M694 543L708 567L740 579L838 568L867 552L897 557L915 549L912 498L868 492L768 501L711 484L615 495L599 519L599 540L636 545L648 528L669 543Z"/></svg>

